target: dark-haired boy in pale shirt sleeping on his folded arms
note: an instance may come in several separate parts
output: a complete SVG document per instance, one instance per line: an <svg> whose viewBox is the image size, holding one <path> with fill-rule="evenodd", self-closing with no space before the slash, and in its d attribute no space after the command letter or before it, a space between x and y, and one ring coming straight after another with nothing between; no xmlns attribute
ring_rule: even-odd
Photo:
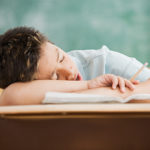
<svg viewBox="0 0 150 150"><path fill-rule="evenodd" d="M113 89L119 86L121 92L125 87L133 90L138 81L128 79L141 65L107 47L67 54L33 28L14 28L0 36L0 87L8 87L2 97L9 104L40 103L47 91L75 92L110 85ZM138 79L149 77L145 68Z"/></svg>

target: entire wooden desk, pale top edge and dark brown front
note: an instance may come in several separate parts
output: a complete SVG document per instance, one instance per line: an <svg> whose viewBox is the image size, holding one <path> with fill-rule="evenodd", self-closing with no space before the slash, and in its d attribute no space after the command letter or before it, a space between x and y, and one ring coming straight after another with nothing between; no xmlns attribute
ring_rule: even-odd
<svg viewBox="0 0 150 150"><path fill-rule="evenodd" d="M1 150L147 150L150 104L0 107Z"/></svg>

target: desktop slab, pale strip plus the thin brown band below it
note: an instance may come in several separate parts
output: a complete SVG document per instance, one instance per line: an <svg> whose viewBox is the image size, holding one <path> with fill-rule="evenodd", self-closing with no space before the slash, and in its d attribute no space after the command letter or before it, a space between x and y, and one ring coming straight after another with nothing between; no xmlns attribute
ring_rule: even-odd
<svg viewBox="0 0 150 150"><path fill-rule="evenodd" d="M53 104L1 106L0 118L150 118L150 104Z"/></svg>

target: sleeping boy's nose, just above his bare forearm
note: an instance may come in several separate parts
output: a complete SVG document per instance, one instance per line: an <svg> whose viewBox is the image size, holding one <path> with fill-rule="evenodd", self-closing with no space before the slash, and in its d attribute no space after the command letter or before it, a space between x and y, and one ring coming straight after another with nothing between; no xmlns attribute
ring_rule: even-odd
<svg viewBox="0 0 150 150"><path fill-rule="evenodd" d="M60 80L74 80L74 72L72 67L61 67L58 70Z"/></svg>

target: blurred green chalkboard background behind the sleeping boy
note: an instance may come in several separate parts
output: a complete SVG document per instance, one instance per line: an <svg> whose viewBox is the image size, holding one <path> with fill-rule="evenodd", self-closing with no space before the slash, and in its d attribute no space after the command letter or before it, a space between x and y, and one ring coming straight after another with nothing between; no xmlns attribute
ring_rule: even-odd
<svg viewBox="0 0 150 150"><path fill-rule="evenodd" d="M16 26L40 30L56 45L102 45L150 63L149 0L0 0L0 34Z"/></svg>

